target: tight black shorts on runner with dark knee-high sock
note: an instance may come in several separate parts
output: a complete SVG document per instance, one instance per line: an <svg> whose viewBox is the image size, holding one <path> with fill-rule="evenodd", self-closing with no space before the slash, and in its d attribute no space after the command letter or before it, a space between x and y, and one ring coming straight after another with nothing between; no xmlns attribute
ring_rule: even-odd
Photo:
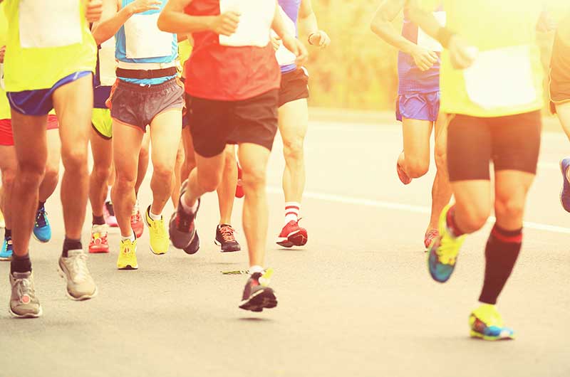
<svg viewBox="0 0 570 377"><path fill-rule="evenodd" d="M455 115L447 129L450 181L489 180L494 170L537 174L541 112L479 118Z"/></svg>

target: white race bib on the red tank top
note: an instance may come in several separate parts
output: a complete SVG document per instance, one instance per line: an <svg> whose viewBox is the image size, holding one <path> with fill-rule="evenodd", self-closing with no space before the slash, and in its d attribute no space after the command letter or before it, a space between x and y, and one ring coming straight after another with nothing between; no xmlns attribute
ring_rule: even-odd
<svg viewBox="0 0 570 377"><path fill-rule="evenodd" d="M239 11L242 14L236 32L231 36L219 36L219 44L234 47L267 46L275 6L275 0L219 0L220 13Z"/></svg>

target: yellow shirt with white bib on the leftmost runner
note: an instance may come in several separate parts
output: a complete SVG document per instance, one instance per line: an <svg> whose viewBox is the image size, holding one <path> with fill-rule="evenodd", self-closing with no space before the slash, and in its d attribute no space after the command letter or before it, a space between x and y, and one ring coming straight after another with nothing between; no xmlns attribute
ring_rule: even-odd
<svg viewBox="0 0 570 377"><path fill-rule="evenodd" d="M83 3L4 1L10 25L4 66L7 92L48 89L68 75L95 70L97 46Z"/></svg>

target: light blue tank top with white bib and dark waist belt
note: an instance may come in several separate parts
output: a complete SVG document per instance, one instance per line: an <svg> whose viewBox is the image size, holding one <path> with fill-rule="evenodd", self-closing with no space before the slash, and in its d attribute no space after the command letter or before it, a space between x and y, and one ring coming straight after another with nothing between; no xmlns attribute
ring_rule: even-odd
<svg viewBox="0 0 570 377"><path fill-rule="evenodd" d="M118 0L124 8L135 0ZM176 65L178 43L176 34L160 31L157 19L167 0L162 0L160 9L135 14L115 35L115 58L120 68L156 70ZM126 64L125 64L126 63ZM164 78L135 79L120 78L128 83L140 85L157 85L175 78L176 75Z"/></svg>

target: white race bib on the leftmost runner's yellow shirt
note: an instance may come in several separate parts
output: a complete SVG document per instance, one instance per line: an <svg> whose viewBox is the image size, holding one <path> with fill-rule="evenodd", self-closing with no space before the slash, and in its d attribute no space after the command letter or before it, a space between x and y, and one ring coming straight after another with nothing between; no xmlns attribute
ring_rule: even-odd
<svg viewBox="0 0 570 377"><path fill-rule="evenodd" d="M52 48L83 42L81 1L20 0L20 46Z"/></svg>

